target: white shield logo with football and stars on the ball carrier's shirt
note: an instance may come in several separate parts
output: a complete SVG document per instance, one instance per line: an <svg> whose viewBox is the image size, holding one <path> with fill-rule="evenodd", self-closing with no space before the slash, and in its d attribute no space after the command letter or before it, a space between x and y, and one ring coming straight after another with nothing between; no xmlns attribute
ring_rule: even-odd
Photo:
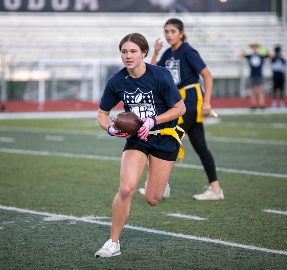
<svg viewBox="0 0 287 270"><path fill-rule="evenodd" d="M133 93L125 91L125 104L131 108L131 112L140 118L156 116L154 98L152 91L144 93L139 88Z"/></svg>

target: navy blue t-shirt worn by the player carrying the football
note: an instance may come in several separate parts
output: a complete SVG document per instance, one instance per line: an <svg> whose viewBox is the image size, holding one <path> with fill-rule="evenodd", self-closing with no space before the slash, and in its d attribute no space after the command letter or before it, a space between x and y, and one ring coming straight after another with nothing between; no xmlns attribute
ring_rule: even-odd
<svg viewBox="0 0 287 270"><path fill-rule="evenodd" d="M120 101L124 110L135 113L138 117L152 117L165 113L171 106L181 100L181 95L173 82L168 70L146 63L146 72L139 78L127 79L127 68L114 74L108 79L100 101L100 109L110 111ZM177 119L158 124L151 130L174 128ZM172 152L180 146L179 142L170 135L150 135L147 141L140 140L137 135L127 139L146 147L163 152Z"/></svg>

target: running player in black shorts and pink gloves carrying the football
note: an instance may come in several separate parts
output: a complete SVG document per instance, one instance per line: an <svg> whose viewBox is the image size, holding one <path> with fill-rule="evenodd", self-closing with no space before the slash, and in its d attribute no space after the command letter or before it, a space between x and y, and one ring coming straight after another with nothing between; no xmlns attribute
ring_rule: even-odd
<svg viewBox="0 0 287 270"><path fill-rule="evenodd" d="M96 257L121 254L119 236L129 217L131 199L141 174L149 160L146 181L146 200L155 206L162 199L172 167L180 149L177 126L178 117L185 113L185 105L168 70L144 63L149 45L144 36L132 33L120 44L125 67L109 78L98 110L98 122L111 136L126 138L119 192L112 206L110 239L96 252ZM125 111L132 111L143 119L138 135L129 136L116 130L110 122L110 110L120 101ZM171 135L161 135L159 130L170 129ZM148 136L150 135L150 136ZM114 175L111 175L114 177Z"/></svg>

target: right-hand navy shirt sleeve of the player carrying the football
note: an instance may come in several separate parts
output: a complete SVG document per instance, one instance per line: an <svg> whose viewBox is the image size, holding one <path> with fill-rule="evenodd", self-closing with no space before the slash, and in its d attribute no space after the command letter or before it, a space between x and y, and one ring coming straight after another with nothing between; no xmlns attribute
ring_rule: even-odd
<svg viewBox="0 0 287 270"><path fill-rule="evenodd" d="M165 101L168 107L173 106L182 99L179 90L174 83L172 75L168 70L166 70L165 75L162 77L162 81L160 83L160 93L162 99Z"/></svg>

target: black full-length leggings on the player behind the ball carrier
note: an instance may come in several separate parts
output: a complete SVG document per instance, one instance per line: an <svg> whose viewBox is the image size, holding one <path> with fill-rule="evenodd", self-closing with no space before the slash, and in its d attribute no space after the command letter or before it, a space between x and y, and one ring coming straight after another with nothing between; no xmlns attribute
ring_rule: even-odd
<svg viewBox="0 0 287 270"><path fill-rule="evenodd" d="M202 123L196 122L197 111L186 111L183 115L184 123L179 125L185 130L189 140L201 160L208 177L208 181L214 182L217 180L216 169L212 154L207 148L205 141L204 128Z"/></svg>

